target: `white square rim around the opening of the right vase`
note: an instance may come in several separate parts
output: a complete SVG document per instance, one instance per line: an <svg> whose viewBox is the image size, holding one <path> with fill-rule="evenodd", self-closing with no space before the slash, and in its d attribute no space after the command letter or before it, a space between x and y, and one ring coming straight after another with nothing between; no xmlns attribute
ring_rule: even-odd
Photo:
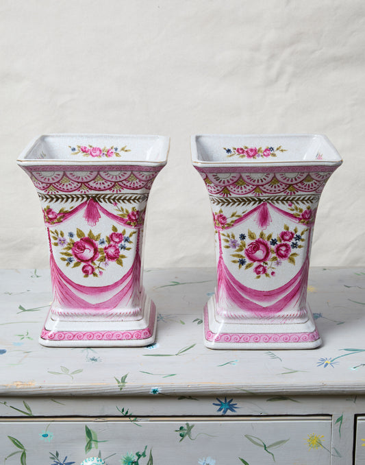
<svg viewBox="0 0 365 465"><path fill-rule="evenodd" d="M338 158L337 160L265 160L265 161L247 161L247 160L199 160L199 154L197 149L197 139L199 137L209 137L209 138L218 138L218 137L286 137L286 138L295 138L295 137L308 137L308 138L318 138L322 139L330 149L333 151L334 156ZM190 150L191 150L191 161L194 167L238 167L238 166L305 166L305 165L325 165L325 166L340 166L343 163L342 157L338 153L336 147L331 143L328 137L325 134L316 134L316 133L272 133L272 134L192 134L190 136Z"/></svg>

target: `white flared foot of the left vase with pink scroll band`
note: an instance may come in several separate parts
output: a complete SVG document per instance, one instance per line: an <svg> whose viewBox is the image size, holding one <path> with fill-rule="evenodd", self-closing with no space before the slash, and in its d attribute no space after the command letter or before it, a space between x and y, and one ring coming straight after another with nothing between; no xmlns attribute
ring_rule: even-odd
<svg viewBox="0 0 365 465"><path fill-rule="evenodd" d="M144 300L142 318L136 321L62 321L47 316L39 342L47 347L136 347L155 341L156 307L150 298Z"/></svg>

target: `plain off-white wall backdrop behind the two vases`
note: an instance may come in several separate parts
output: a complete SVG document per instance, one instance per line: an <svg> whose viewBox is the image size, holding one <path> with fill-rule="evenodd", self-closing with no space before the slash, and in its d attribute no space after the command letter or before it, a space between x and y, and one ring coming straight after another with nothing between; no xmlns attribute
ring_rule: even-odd
<svg viewBox="0 0 365 465"><path fill-rule="evenodd" d="M171 136L147 267L214 265L190 134L327 134L344 164L320 200L311 264L364 265L363 0L1 0L0 31L3 267L48 265L15 160L50 132Z"/></svg>

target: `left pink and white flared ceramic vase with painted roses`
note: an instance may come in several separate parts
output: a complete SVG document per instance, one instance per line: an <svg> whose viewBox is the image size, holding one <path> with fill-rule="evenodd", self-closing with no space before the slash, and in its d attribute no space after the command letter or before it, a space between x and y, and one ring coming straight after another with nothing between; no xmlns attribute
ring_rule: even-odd
<svg viewBox="0 0 365 465"><path fill-rule="evenodd" d="M142 237L162 136L40 136L18 165L31 178L49 240L53 302L45 346L145 346L156 309L142 285Z"/></svg>

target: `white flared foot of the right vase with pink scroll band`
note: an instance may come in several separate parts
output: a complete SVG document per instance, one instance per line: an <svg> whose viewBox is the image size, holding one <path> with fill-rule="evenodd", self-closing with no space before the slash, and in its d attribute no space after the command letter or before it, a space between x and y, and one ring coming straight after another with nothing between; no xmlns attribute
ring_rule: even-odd
<svg viewBox="0 0 365 465"><path fill-rule="evenodd" d="M204 344L212 349L310 349L322 344L312 312L301 323L244 324L218 322L212 296L204 308Z"/></svg>

